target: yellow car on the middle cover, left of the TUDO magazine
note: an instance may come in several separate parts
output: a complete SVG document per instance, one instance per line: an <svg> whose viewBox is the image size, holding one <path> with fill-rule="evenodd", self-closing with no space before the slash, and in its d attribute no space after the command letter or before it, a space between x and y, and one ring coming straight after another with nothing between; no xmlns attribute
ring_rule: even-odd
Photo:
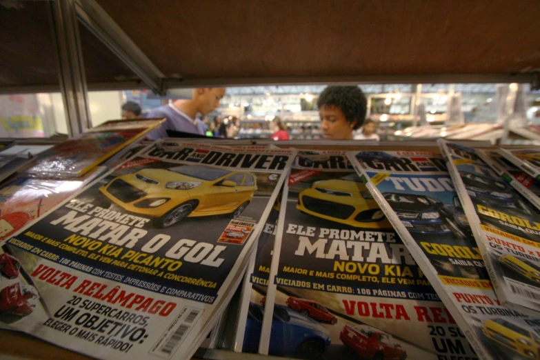
<svg viewBox="0 0 540 360"><path fill-rule="evenodd" d="M315 181L298 197L297 209L357 228L390 228L390 223L357 174Z"/></svg>

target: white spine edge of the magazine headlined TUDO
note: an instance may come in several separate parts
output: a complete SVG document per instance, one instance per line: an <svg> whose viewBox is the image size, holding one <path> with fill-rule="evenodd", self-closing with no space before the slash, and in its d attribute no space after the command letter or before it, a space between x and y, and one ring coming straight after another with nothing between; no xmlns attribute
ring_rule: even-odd
<svg viewBox="0 0 540 360"><path fill-rule="evenodd" d="M403 241L403 244L405 244L409 250L410 254L414 258L414 261L417 262L417 265L426 275L428 281L431 283L431 286L439 295L439 298L441 298L444 306L448 308L448 311L450 311L450 314L452 314L452 317L457 322L458 326L461 328L461 330L463 330L467 340L476 351L478 357L482 360L491 359L488 357L486 349L481 346L481 342L477 340L476 336L474 335L474 331L469 326L468 321L466 321L461 314L461 311L459 311L459 308L457 308L454 301L452 301L450 294L448 294L448 292L446 292L445 288L442 286L441 281L437 276L437 271L433 268L426 256L419 250L418 246L416 245L416 241L414 241L410 232L408 232L403 223L401 223L399 217L397 217L397 214L394 212L394 210L392 210L388 201L384 199L381 192L379 192L377 189L377 186L372 183L366 171L362 168L362 166L360 166L359 162L355 158L355 152L349 153L349 159L354 164L354 169L358 172L362 181L365 183L366 188L368 188L369 192L372 194L372 197L374 197L374 199L377 201L381 210L383 210L384 214L386 214L388 221L390 221L394 227L394 230L396 230L399 237L401 237L401 241Z"/></svg>

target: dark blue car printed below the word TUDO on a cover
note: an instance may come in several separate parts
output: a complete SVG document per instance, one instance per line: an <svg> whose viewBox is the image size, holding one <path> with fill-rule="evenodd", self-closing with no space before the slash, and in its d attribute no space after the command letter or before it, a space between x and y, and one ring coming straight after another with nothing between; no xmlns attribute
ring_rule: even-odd
<svg viewBox="0 0 540 360"><path fill-rule="evenodd" d="M410 232L422 234L466 235L454 219L457 216L452 206L427 195L385 192L383 197Z"/></svg>

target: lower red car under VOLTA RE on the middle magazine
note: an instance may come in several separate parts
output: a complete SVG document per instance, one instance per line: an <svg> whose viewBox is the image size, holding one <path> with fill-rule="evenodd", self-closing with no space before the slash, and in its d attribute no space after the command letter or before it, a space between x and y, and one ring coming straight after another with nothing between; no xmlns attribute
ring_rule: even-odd
<svg viewBox="0 0 540 360"><path fill-rule="evenodd" d="M359 357L373 360L405 360L407 352L392 335L367 325L343 326L339 339Z"/></svg>

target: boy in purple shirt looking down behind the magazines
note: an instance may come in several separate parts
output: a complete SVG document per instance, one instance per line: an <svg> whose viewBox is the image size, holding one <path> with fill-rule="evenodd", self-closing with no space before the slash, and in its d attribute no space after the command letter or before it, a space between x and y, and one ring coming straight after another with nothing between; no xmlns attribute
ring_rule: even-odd
<svg viewBox="0 0 540 360"><path fill-rule="evenodd" d="M167 130L204 135L204 124L196 119L197 113L209 114L219 106L225 95L225 88L197 88L190 100L176 100L167 105L150 110L147 118L166 118L159 128L148 134L148 139L167 137Z"/></svg>

